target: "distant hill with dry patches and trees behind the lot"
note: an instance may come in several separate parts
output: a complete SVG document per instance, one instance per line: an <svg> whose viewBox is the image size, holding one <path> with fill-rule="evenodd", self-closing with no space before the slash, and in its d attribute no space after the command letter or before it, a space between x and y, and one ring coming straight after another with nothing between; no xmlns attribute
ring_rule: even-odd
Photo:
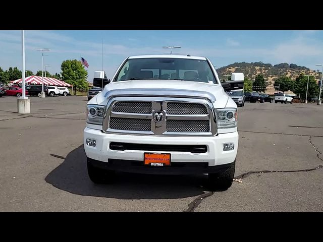
<svg viewBox="0 0 323 242"><path fill-rule="evenodd" d="M269 84L267 86L267 93L275 92L273 84L275 79L280 75L291 77L292 80L295 80L295 78L301 73L304 75L313 75L317 81L320 77L320 74L317 71L310 70L307 67L288 63L281 63L273 66L272 64L262 62L236 62L217 69L217 72L221 81L227 80L225 75L231 75L233 72L242 72L245 77L248 77L252 81L254 81L256 75L262 74L266 82Z"/></svg>

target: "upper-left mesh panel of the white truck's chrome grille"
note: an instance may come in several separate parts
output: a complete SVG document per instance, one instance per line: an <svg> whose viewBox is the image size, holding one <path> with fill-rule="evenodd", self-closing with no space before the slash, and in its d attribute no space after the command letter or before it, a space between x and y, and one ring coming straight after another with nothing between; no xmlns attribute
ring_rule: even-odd
<svg viewBox="0 0 323 242"><path fill-rule="evenodd" d="M113 112L151 113L151 102L117 102L113 105Z"/></svg>

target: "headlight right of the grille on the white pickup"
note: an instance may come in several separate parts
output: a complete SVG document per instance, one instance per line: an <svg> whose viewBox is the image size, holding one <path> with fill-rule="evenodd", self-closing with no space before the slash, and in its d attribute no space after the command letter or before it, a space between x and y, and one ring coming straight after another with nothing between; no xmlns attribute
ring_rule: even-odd
<svg viewBox="0 0 323 242"><path fill-rule="evenodd" d="M238 127L238 111L236 108L215 109L218 129Z"/></svg>

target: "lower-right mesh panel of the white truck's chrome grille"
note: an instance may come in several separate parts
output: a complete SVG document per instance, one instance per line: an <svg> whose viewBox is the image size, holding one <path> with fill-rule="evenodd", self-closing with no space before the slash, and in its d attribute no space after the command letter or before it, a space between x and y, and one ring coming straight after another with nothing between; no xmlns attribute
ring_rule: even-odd
<svg viewBox="0 0 323 242"><path fill-rule="evenodd" d="M167 132L204 133L209 132L209 120L176 120L169 119L166 122Z"/></svg>

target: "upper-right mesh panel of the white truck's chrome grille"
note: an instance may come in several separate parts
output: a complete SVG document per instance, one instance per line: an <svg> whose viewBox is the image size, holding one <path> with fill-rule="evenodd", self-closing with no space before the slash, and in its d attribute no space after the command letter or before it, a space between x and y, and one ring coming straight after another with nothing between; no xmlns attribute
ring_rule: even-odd
<svg viewBox="0 0 323 242"><path fill-rule="evenodd" d="M168 114L207 114L207 109L203 104L185 103L185 102L169 102L167 103Z"/></svg>

